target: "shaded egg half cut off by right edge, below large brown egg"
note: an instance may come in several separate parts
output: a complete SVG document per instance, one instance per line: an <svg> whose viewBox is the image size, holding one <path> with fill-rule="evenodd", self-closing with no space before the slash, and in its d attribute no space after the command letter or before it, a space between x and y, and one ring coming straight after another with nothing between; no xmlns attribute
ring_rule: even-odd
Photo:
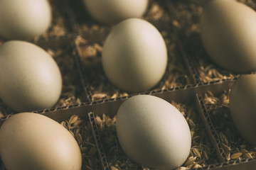
<svg viewBox="0 0 256 170"><path fill-rule="evenodd" d="M230 114L238 132L256 145L256 75L242 75L230 91Z"/></svg>

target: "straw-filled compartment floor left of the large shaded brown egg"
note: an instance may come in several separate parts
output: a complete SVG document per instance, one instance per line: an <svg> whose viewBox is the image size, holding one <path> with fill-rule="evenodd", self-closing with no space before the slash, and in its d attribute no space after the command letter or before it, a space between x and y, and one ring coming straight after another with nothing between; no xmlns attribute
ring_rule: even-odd
<svg viewBox="0 0 256 170"><path fill-rule="evenodd" d="M255 1L242 1L243 4L255 8ZM178 28L182 45L188 60L194 67L198 82L215 81L218 79L233 79L239 74L218 67L208 56L200 35L200 17L203 13L203 1L176 1L171 3L173 14L176 15L174 26Z"/></svg>

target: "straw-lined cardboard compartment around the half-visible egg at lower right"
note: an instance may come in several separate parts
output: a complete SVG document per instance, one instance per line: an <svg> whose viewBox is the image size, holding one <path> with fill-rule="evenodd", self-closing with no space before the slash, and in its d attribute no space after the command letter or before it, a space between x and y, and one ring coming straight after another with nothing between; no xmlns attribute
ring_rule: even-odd
<svg viewBox="0 0 256 170"><path fill-rule="evenodd" d="M201 114L208 125L208 132L213 137L213 145L223 166L227 166L227 169L228 166L230 169L255 169L255 146L250 145L240 136L230 115L230 87L234 81L235 79L230 81L230 86L223 88L223 91L209 89L198 94ZM239 165L233 166L236 164Z"/></svg>

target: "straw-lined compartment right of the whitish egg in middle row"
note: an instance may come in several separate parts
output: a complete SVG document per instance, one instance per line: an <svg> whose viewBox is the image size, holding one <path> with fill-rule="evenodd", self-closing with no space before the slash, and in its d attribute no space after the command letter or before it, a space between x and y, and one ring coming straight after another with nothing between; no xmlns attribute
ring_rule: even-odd
<svg viewBox="0 0 256 170"><path fill-rule="evenodd" d="M58 103L55 108L61 108L74 104L79 104L88 101L85 95L85 90L80 80L80 72L77 62L75 62L75 51L72 42L60 41L38 43L38 46L43 47L48 52L60 68L63 79L63 89L60 94ZM2 101L0 102L1 116L6 116L16 113L6 106Z"/></svg>

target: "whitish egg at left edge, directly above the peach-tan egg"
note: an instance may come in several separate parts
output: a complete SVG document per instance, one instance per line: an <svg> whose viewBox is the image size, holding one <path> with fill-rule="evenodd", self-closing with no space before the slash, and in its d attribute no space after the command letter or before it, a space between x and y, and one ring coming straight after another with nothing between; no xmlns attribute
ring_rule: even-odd
<svg viewBox="0 0 256 170"><path fill-rule="evenodd" d="M0 98L18 112L51 108L60 97L60 69L45 50L10 40L0 46Z"/></svg>

